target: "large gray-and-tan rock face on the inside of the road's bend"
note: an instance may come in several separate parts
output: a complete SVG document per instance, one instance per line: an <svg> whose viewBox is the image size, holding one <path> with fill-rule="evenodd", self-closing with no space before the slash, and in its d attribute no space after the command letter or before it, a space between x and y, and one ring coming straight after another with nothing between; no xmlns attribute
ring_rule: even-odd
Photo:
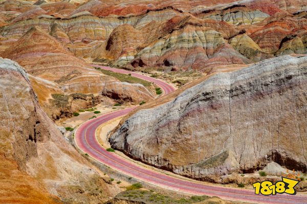
<svg viewBox="0 0 307 204"><path fill-rule="evenodd" d="M306 171L307 57L218 73L167 104L141 110L111 136L134 159L200 180L269 162Z"/></svg>

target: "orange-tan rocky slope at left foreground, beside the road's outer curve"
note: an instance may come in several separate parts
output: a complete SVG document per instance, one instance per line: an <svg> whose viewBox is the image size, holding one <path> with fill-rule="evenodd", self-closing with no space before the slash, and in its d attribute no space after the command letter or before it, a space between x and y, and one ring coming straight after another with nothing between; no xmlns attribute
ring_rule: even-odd
<svg viewBox="0 0 307 204"><path fill-rule="evenodd" d="M41 110L23 68L0 58L0 74L0 202L99 203L119 191Z"/></svg>

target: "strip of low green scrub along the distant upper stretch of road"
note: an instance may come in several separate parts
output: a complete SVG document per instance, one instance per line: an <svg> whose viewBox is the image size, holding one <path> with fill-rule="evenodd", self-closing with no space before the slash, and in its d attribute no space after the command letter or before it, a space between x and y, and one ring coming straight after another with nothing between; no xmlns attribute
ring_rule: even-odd
<svg viewBox="0 0 307 204"><path fill-rule="evenodd" d="M95 67L97 70L101 71L102 73L104 73L105 75L109 75L111 77L114 77L116 79L118 79L121 82L128 82L131 84L142 84L144 87L150 87L151 86L151 82L147 82L145 80L136 78L136 77L132 77L131 74L124 74L124 73L117 73L117 72L113 72L113 71L109 71L109 70L104 70L101 69L99 67Z"/></svg>

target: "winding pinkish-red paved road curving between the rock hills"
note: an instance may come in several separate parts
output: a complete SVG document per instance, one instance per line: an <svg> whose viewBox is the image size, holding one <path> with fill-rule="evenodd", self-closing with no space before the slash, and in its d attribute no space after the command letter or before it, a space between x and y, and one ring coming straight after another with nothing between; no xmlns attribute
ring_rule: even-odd
<svg viewBox="0 0 307 204"><path fill-rule="evenodd" d="M115 69L110 67L103 67L95 65L103 69L120 72L120 73L131 73L134 77L138 77L160 86L164 93L170 93L174 88L160 80L144 76L131 71L126 71L122 69ZM136 107L127 108L120 111L115 111L91 119L80 125L75 133L75 141L77 146L87 153L89 156L95 160L109 166L121 173L128 176L132 176L140 181L156 185L165 189L174 190L177 192L188 193L192 195L208 195L208 196L218 196L226 200L235 201L246 201L252 203L296 203L296 204L306 204L307 195L288 195L288 194L277 194L277 195L255 195L253 190L249 189L238 189L224 186L211 185L206 183L197 183L192 181L181 180L177 177L172 177L158 171L150 170L145 167L138 166L137 164L125 160L124 158L116 155L114 152L106 151L98 142L96 138L96 129L102 123L109 120L117 118L119 116L126 115Z"/></svg>

